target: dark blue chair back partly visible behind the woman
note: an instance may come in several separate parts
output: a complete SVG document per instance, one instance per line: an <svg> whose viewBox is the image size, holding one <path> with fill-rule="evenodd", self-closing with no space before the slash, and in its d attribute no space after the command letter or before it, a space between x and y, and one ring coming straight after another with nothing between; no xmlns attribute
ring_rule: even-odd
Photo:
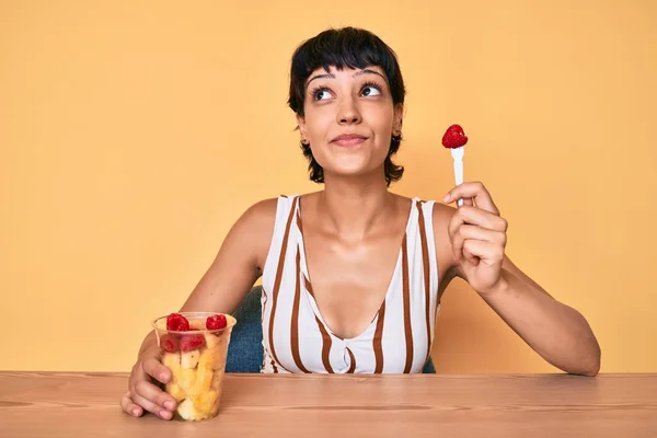
<svg viewBox="0 0 657 438"><path fill-rule="evenodd" d="M226 372L261 372L264 355L261 296L262 287L254 287L233 313L238 324L233 327L230 338ZM436 372L431 358L422 372Z"/></svg>

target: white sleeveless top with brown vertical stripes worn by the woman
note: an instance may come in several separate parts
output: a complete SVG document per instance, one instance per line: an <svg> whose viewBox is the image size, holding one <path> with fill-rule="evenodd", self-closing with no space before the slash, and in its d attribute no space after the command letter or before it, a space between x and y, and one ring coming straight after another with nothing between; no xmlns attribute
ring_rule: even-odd
<svg viewBox="0 0 657 438"><path fill-rule="evenodd" d="M433 200L413 199L378 313L360 335L341 338L322 318L309 281L299 195L278 197L263 269L262 372L420 372L440 310L433 208Z"/></svg>

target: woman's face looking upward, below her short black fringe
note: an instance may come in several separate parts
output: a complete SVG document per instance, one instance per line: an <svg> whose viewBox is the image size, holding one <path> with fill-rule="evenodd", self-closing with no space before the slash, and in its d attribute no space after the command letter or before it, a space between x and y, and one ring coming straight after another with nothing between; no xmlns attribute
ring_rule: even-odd
<svg viewBox="0 0 657 438"><path fill-rule="evenodd" d="M327 73L320 68L306 83L301 137L331 175L356 176L381 171L393 134L400 134L402 104L394 105L379 67Z"/></svg>

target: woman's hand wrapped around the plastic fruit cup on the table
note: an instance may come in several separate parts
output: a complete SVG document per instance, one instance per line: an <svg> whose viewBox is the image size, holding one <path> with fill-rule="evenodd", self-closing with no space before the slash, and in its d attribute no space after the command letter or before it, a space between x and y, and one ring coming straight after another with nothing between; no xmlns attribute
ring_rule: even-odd
<svg viewBox="0 0 657 438"><path fill-rule="evenodd" d="M145 410L162 419L173 418L175 400L155 383L171 380L171 370L160 361L157 346L145 350L132 367L128 391L120 399L120 407L129 415L139 417Z"/></svg>

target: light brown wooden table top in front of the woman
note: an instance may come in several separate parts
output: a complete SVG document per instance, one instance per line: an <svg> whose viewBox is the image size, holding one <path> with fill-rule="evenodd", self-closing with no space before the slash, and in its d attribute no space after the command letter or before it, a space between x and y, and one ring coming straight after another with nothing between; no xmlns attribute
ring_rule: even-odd
<svg viewBox="0 0 657 438"><path fill-rule="evenodd" d="M227 374L211 420L123 414L124 373L0 372L0 437L657 437L657 373Z"/></svg>

